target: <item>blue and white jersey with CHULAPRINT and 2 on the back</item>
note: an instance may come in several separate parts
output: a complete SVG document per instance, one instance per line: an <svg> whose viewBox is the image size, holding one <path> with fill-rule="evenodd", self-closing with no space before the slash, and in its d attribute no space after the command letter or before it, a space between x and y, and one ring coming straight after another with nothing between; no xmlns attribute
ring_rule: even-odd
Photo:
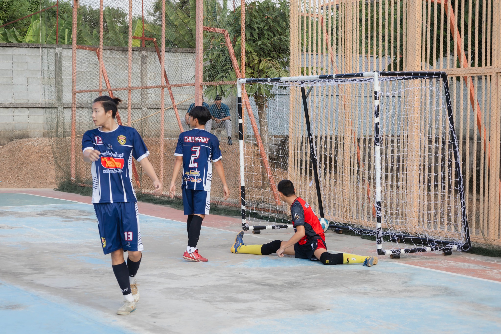
<svg viewBox="0 0 501 334"><path fill-rule="evenodd" d="M183 132L174 155L183 157L181 188L210 191L212 161L222 158L217 137L203 129Z"/></svg>

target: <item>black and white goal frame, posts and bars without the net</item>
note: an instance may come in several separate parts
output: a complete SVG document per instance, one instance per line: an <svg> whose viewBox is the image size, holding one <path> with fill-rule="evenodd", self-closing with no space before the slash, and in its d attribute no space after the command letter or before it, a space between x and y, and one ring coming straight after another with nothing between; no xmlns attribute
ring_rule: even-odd
<svg viewBox="0 0 501 334"><path fill-rule="evenodd" d="M384 79L385 77L389 77ZM239 132L239 153L240 153L240 191L241 191L241 218L242 218L242 229L243 230L252 230L259 231L265 229L281 229L281 228L291 228L292 224L268 224L268 225L259 225L259 226L249 226L246 223L246 207L245 204L245 178L244 178L244 170L245 170L245 161L244 161L244 133L243 133L243 114L242 114L242 85L245 84L259 84L259 83L295 83L296 86L301 89L301 98L303 102L303 112L305 117L305 125L308 132L308 141L310 146L310 159L312 162L312 168L314 173L314 181L316 186L316 193L318 197L318 205L319 205L319 215L321 218L324 218L324 210L323 210L323 201L322 201L322 193L320 190L320 180L318 175L318 166L317 159L315 155L314 148L314 138L311 132L311 122L308 111L308 93L305 92L305 87L311 85L313 81L318 83L318 85L322 84L322 81L329 81L332 79L353 79L353 78L372 78L373 82L373 108L374 108L374 174L375 174L375 185L376 189L374 192L374 200L376 207L376 215L375 215L375 229L363 229L357 228L357 231L362 234L373 234L376 236L376 248L379 255L391 254L391 255L399 255L404 253L415 253L415 252L426 252L426 251L442 251L447 252L450 250L467 250L471 247L471 241L469 237L469 227L468 227L468 219L465 208L465 199L464 199L464 183L463 176L461 174L461 162L459 157L459 148L457 137L454 128L454 119L452 114L451 101L449 96L449 85L447 74L445 72L433 72L433 71L372 71L372 72L359 72L359 73L349 73L349 74L331 74L331 75L317 75L317 76L296 76L296 77L282 77L282 78L259 78L259 79L237 79L237 108L238 108L238 132ZM380 80L417 80L417 79L440 79L443 84L444 89L444 99L445 99L445 107L447 109L447 118L449 122L449 132L450 132L450 145L452 147L452 154L454 156L454 170L456 175L457 182L457 190L458 190L458 198L460 201L460 215L461 215L461 229L464 235L464 242L462 244L458 244L455 241L448 240L440 240L434 239L430 237L416 236L406 233L394 233L392 237L395 239L400 239L402 241L409 241L413 244L422 244L425 246L417 246L412 248L401 248L401 249L388 249L385 250L382 247L383 244L383 229L381 222L381 157L380 157L380 145L381 145L381 137L380 137ZM274 211L273 209L268 209L269 211ZM285 212L281 212L285 213ZM348 228L346 225L339 225L336 222L330 223L330 228L333 229L346 229Z"/></svg>

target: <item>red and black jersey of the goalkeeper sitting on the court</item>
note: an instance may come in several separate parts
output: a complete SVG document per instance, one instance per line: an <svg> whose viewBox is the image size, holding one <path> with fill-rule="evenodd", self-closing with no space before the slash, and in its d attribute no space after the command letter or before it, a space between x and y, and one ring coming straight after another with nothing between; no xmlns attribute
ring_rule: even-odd
<svg viewBox="0 0 501 334"><path fill-rule="evenodd" d="M316 239L325 241L324 229L308 202L301 197L296 198L291 205L291 214L295 231L297 226L305 226L305 236L299 240L300 245Z"/></svg>

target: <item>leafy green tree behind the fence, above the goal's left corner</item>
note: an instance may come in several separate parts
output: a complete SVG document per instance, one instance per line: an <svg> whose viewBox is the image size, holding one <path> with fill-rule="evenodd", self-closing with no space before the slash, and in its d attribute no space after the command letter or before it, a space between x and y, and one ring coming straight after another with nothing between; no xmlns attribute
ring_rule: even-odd
<svg viewBox="0 0 501 334"><path fill-rule="evenodd" d="M240 7L224 18L234 52L240 61ZM221 34L207 36L204 43L204 70L207 75L218 73L212 81L235 81L224 38ZM248 3L245 8L245 76L247 78L284 77L289 74L289 2L287 0L265 0ZM207 78L211 79L211 78ZM206 79L204 78L204 81ZM215 95L214 90L221 87L207 88L206 95ZM224 89L224 86L222 87ZM236 93L234 86L231 86ZM221 92L217 91L218 94ZM229 91L222 92L227 96ZM263 87L249 88L247 94L254 97L258 110L264 111L273 93Z"/></svg>

